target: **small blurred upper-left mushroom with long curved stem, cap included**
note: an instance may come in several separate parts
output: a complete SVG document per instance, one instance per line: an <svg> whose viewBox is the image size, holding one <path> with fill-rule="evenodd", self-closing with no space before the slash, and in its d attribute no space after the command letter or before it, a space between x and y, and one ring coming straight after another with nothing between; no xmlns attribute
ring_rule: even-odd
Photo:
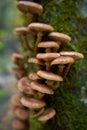
<svg viewBox="0 0 87 130"><path fill-rule="evenodd" d="M33 51L33 49L30 47L29 43L28 43L28 39L27 39L27 35L28 35L28 29L27 27L18 27L14 30L20 37L22 40L22 44L24 46L24 48L30 51Z"/></svg>

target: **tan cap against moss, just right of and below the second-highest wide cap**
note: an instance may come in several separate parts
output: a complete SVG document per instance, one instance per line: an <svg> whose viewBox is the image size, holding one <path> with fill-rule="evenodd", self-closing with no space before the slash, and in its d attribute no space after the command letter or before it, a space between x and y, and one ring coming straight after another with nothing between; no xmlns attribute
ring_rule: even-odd
<svg viewBox="0 0 87 130"><path fill-rule="evenodd" d="M59 33L59 32L51 32L48 36L52 40L56 40L56 41L61 41L61 42L70 42L71 41L70 36L63 34L63 33Z"/></svg>

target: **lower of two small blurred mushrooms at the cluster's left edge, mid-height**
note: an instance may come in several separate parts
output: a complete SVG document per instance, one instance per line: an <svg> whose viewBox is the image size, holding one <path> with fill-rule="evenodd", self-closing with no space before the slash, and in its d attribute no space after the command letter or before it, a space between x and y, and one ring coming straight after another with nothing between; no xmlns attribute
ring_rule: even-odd
<svg viewBox="0 0 87 130"><path fill-rule="evenodd" d="M12 67L9 69L9 72L14 74L18 79L25 75L25 70L18 67Z"/></svg>

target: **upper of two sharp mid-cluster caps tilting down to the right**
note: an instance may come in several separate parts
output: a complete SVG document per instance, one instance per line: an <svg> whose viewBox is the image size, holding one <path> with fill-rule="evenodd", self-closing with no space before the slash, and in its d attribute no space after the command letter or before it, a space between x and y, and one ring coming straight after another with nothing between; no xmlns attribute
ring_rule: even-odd
<svg viewBox="0 0 87 130"><path fill-rule="evenodd" d="M57 74L54 74L52 72L42 71L39 70L37 74L47 80L53 80L53 81L63 81L63 78Z"/></svg>

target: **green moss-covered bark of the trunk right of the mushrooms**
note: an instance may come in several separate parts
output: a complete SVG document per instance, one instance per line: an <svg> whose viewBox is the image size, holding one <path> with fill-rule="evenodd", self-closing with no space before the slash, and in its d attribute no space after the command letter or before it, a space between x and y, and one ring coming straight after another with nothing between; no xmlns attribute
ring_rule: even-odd
<svg viewBox="0 0 87 130"><path fill-rule="evenodd" d="M35 0L44 7L38 21L52 25L55 31L69 34L72 42L63 44L61 50L80 51L87 56L86 21L81 14L82 0ZM82 43L83 42L83 43ZM85 46L85 47L84 47ZM46 124L31 121L30 130L86 130L86 107L81 102L81 86L86 61L77 61L53 96L46 95L44 100L48 106L57 111L54 119ZM86 73L86 72L85 72ZM84 74L85 74L84 73Z"/></svg>

